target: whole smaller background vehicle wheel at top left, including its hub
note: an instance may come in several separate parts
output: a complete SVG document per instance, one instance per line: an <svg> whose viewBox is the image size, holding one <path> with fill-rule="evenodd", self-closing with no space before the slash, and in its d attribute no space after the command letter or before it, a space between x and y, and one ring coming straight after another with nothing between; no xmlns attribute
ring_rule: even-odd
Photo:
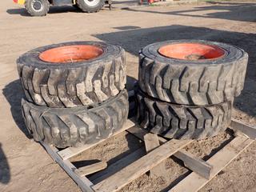
<svg viewBox="0 0 256 192"><path fill-rule="evenodd" d="M46 16L50 9L50 2L48 0L26 0L25 8L31 16Z"/></svg>

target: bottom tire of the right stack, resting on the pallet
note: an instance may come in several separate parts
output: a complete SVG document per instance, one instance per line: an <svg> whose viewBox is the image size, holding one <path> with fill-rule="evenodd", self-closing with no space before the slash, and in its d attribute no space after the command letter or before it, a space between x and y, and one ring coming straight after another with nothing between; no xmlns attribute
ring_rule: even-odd
<svg viewBox="0 0 256 192"><path fill-rule="evenodd" d="M232 102L208 106L185 106L161 102L137 91L139 124L165 138L202 139L226 130L231 122Z"/></svg>

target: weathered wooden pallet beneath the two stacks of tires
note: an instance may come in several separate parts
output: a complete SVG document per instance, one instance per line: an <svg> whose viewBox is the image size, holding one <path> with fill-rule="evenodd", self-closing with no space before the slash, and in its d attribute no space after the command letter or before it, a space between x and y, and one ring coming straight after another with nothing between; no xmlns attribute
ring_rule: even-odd
<svg viewBox="0 0 256 192"><path fill-rule="evenodd" d="M132 96L133 93L130 92L129 94ZM122 131L133 134L145 142L147 154L143 155L144 148L141 147L110 166L107 166L106 162L97 162L77 169L69 160L99 142L78 148L68 147L64 150L58 150L56 147L46 145L43 142L41 144L50 154L50 157L70 175L70 178L78 184L82 191L117 191L149 170L150 176L151 174L152 177L159 176L162 173L162 169L165 169L162 162L173 155L182 160L184 165L193 172L183 178L181 182L178 182L170 191L183 192L189 189L189 191L194 192L200 190L207 182L210 182L215 175L250 146L256 138L256 127L233 119L230 128L236 131L235 138L206 162L183 149L192 140L171 139L167 141L165 138L141 129L132 119L128 119L122 130L119 130L114 135ZM106 139L100 142L103 141L106 141ZM123 167L125 163L130 164ZM91 180L86 178L86 175L96 172L98 173L90 177Z"/></svg>

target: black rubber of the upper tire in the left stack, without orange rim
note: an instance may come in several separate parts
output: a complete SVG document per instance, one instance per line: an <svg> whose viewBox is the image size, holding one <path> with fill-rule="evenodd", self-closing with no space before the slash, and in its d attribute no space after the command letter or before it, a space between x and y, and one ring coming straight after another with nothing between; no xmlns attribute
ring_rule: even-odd
<svg viewBox="0 0 256 192"><path fill-rule="evenodd" d="M83 62L43 62L38 55L59 46L94 45L104 50ZM125 50L104 42L66 42L43 46L17 60L26 98L38 106L74 107L104 102L125 88Z"/></svg>

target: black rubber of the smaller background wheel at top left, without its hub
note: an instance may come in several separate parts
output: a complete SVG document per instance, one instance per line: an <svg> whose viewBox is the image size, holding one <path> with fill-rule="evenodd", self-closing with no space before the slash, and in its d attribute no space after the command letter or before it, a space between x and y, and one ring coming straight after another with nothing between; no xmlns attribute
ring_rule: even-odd
<svg viewBox="0 0 256 192"><path fill-rule="evenodd" d="M50 2L48 0L38 0L42 3L42 10L34 10L32 2L33 0L26 0L25 1L25 8L26 11L31 15L31 16L46 16L50 9Z"/></svg>

